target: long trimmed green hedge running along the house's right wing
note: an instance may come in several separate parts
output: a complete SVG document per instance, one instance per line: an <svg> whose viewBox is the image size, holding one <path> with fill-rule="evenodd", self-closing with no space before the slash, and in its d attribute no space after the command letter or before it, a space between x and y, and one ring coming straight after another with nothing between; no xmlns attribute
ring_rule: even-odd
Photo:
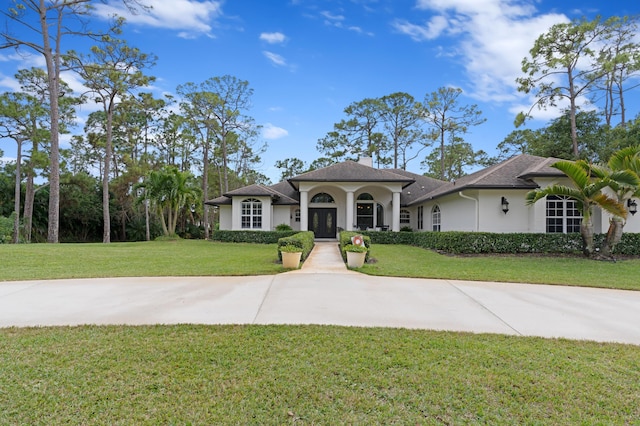
<svg viewBox="0 0 640 426"><path fill-rule="evenodd" d="M452 254L480 253L582 253L580 234L490 232L362 232L374 244L406 244ZM600 247L605 235L595 236ZM640 255L640 234L625 233L615 254Z"/></svg>

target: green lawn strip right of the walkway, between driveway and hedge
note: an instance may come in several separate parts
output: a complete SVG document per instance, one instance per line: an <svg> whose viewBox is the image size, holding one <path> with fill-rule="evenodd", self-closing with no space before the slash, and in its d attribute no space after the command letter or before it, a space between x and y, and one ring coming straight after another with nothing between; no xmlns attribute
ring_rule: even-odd
<svg viewBox="0 0 640 426"><path fill-rule="evenodd" d="M603 262L561 256L447 256L417 247L376 244L360 272L396 277L561 284L640 290L640 259Z"/></svg>

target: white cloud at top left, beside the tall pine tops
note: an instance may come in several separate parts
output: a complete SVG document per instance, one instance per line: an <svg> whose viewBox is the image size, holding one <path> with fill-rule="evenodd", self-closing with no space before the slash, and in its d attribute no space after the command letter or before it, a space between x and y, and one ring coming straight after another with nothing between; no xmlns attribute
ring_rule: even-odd
<svg viewBox="0 0 640 426"><path fill-rule="evenodd" d="M192 38L197 34L210 34L211 21L222 15L221 1L153 0L150 11L131 13L122 2L109 0L107 4L95 5L96 13L102 17L114 14L123 16L127 22L157 28L182 30L179 35Z"/></svg>

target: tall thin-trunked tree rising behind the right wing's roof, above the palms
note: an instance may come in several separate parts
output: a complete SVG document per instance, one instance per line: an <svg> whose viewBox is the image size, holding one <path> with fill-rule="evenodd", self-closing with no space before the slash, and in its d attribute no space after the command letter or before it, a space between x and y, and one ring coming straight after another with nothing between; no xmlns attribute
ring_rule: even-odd
<svg viewBox="0 0 640 426"><path fill-rule="evenodd" d="M519 91L533 93L536 98L529 112L518 114L516 126L522 125L535 107L555 107L559 100L569 103L574 159L580 158L576 124L578 100L590 93L603 74L601 67L595 64L595 48L603 31L599 17L593 21L582 19L552 26L535 41L529 51L531 57L522 60L525 76L516 79Z"/></svg>

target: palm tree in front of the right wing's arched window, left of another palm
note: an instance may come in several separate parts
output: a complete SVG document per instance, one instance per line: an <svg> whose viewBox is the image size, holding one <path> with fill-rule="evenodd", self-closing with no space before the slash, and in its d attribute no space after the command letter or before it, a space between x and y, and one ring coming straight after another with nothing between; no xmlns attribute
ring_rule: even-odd
<svg viewBox="0 0 640 426"><path fill-rule="evenodd" d="M575 200L578 211L582 214L582 222L580 223L582 251L585 256L591 256L595 251L593 242L593 207L598 206L614 216L623 218L627 217L627 210L622 203L602 193L602 189L609 186L609 180L594 179L591 165L586 161L558 161L552 164L551 167L567 175L574 186L556 184L530 191L526 197L527 204L533 204L548 195L565 196Z"/></svg>

